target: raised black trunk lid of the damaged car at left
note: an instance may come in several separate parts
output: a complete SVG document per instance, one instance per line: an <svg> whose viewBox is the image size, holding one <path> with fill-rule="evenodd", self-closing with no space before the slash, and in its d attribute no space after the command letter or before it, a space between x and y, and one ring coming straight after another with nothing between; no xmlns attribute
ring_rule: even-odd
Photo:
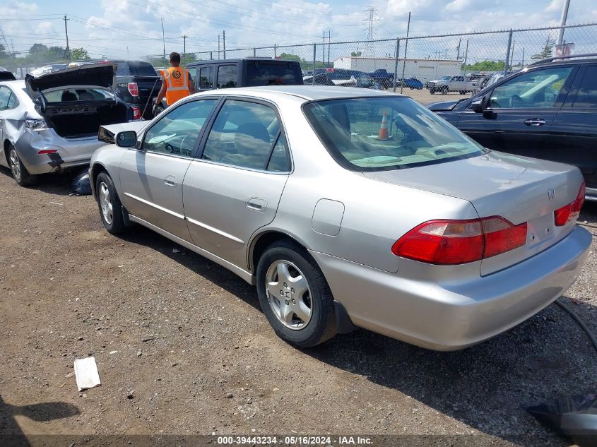
<svg viewBox="0 0 597 447"><path fill-rule="evenodd" d="M27 90L31 97L37 92L51 88L71 87L78 85L112 88L114 85L115 64L85 64L72 68L45 73L40 76L25 76Z"/></svg>

